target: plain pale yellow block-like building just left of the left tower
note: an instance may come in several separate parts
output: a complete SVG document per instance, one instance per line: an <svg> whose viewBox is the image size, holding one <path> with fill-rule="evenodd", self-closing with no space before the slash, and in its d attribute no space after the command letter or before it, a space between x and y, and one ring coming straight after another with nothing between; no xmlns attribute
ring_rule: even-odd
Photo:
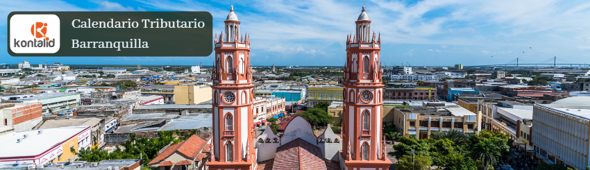
<svg viewBox="0 0 590 170"><path fill-rule="evenodd" d="M174 103L180 105L196 105L210 101L213 91L208 85L175 85Z"/></svg>

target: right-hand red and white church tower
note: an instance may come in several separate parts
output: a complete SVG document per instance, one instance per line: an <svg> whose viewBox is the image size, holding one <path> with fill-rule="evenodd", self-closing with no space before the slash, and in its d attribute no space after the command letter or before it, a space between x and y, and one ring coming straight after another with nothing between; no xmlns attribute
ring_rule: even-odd
<svg viewBox="0 0 590 170"><path fill-rule="evenodd" d="M364 6L355 28L356 33L346 40L342 158L348 169L388 169L391 161L385 157L381 125L381 40L371 33Z"/></svg>

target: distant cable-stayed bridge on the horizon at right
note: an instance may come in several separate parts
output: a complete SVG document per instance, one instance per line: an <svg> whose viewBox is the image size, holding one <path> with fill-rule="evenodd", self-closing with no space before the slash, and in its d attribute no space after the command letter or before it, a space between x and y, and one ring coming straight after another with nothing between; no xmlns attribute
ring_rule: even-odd
<svg viewBox="0 0 590 170"><path fill-rule="evenodd" d="M561 63L557 63L557 62ZM557 57L549 58L538 63L532 63L519 58L500 65L469 65L463 67L590 67L590 63L573 63Z"/></svg>

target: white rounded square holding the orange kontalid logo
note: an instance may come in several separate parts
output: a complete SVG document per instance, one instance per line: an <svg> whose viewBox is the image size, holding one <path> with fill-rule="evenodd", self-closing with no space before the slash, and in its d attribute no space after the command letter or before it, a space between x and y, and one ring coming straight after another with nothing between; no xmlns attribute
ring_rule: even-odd
<svg viewBox="0 0 590 170"><path fill-rule="evenodd" d="M60 49L57 15L12 15L8 44L13 53L56 53Z"/></svg>

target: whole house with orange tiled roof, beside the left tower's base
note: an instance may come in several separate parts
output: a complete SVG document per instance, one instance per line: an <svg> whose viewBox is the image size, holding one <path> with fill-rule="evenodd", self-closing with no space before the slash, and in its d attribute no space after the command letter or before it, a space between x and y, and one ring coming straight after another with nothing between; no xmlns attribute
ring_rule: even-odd
<svg viewBox="0 0 590 170"><path fill-rule="evenodd" d="M160 167L160 170L205 170L205 162L209 160L211 135L205 139L192 135L183 142L168 146L148 163L149 166Z"/></svg>

